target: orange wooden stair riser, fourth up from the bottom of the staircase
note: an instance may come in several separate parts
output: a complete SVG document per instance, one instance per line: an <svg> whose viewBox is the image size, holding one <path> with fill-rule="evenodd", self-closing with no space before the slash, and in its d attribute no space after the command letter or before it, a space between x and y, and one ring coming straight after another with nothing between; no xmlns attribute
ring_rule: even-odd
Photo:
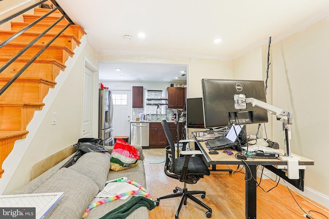
<svg viewBox="0 0 329 219"><path fill-rule="evenodd" d="M6 62L0 61L0 66L4 65ZM8 68L6 68L0 75L1 76L14 76L19 72L26 63L14 62ZM42 77L55 81L56 77L59 75L60 70L65 70L65 68L59 67L58 65L51 63L32 63L21 76L25 77Z"/></svg>

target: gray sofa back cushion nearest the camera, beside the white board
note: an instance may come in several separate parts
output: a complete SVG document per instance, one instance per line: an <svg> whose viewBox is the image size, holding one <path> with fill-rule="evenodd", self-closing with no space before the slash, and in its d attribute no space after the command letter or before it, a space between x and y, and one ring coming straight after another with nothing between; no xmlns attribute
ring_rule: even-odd
<svg viewBox="0 0 329 219"><path fill-rule="evenodd" d="M62 168L34 193L64 192L63 198L46 218L82 218L89 203L98 193L98 186L85 175Z"/></svg>

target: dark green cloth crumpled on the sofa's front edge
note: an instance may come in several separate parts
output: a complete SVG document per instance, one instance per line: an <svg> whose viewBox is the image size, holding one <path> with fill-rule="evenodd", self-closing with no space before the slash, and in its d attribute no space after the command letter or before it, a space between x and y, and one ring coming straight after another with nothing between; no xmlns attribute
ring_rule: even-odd
<svg viewBox="0 0 329 219"><path fill-rule="evenodd" d="M117 207L116 209L108 212L100 219L124 219L134 210L139 207L145 206L149 210L155 208L155 202L144 196L133 196L129 201Z"/></svg>

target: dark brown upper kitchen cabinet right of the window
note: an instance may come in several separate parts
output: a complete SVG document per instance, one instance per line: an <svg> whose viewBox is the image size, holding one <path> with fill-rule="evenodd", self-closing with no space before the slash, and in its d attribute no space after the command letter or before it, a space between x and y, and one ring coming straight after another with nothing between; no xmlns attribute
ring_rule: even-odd
<svg viewBox="0 0 329 219"><path fill-rule="evenodd" d="M186 99L186 88L168 87L168 108L184 108Z"/></svg>

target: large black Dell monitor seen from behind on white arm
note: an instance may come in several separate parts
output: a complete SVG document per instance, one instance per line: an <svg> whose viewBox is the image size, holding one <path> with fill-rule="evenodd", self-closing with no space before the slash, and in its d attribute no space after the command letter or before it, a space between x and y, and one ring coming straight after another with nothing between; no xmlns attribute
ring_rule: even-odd
<svg viewBox="0 0 329 219"><path fill-rule="evenodd" d="M264 81L202 79L202 97L205 128L268 122L267 110L237 104L249 97L266 102Z"/></svg>

